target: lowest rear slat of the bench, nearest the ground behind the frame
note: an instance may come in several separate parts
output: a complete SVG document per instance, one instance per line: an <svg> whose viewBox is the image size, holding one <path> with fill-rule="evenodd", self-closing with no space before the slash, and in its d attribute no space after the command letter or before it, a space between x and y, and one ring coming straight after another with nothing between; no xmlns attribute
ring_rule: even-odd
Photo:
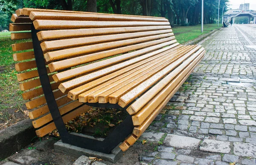
<svg viewBox="0 0 256 165"><path fill-rule="evenodd" d="M68 122L69 120L77 117L79 114L87 112L88 109L90 109L90 107L88 105L83 105L82 107L77 108L76 110L70 112L69 114L64 115L62 117L62 119L63 119L64 123ZM55 126L54 122L51 122L48 125L36 130L35 132L38 137L43 137L44 135L50 133L54 129L56 129L56 126Z"/></svg>

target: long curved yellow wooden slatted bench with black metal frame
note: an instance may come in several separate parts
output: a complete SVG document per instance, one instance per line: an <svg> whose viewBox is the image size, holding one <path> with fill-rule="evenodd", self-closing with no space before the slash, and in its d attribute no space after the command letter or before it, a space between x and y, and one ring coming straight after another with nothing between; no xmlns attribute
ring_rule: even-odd
<svg viewBox="0 0 256 165"><path fill-rule="evenodd" d="M12 40L32 38L12 49L38 137L57 128L63 142L105 153L133 145L205 54L177 43L162 17L24 8L12 21L10 31L29 31ZM128 117L103 141L69 134L64 123L90 106Z"/></svg>

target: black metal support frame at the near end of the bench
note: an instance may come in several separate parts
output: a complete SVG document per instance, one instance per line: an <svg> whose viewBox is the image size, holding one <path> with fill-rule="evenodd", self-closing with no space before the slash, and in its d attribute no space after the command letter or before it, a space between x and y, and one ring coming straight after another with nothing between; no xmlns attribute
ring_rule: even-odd
<svg viewBox="0 0 256 165"><path fill-rule="evenodd" d="M126 119L120 123L103 141L96 139L90 139L87 137L81 137L75 134L69 134L65 124L62 120L61 114L58 109L58 105L52 93L52 88L49 82L46 64L44 63L44 54L41 49L41 42L38 40L37 33L38 30L35 29L33 23L31 27L32 32L32 42L35 53L35 61L38 68L38 74L41 81L41 85L44 91L44 97L47 101L49 111L51 112L52 119L55 123L56 128L61 136L62 142L68 143L70 145L75 145L81 148L87 148L93 151L99 151L103 153L110 153L120 142L122 142L128 135L133 131L134 125L131 119L131 115L128 115ZM99 103L86 103L89 106L99 107L99 108L125 108L120 107L118 104L99 104ZM129 105L128 105L129 106ZM76 108L75 108L76 109Z"/></svg>

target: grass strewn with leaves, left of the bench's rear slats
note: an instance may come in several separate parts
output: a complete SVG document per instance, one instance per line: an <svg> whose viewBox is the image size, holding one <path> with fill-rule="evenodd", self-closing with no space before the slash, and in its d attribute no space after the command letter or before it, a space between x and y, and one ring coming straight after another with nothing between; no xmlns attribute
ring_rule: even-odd
<svg viewBox="0 0 256 165"><path fill-rule="evenodd" d="M11 32L0 32L0 129L27 118L25 101L17 82L11 44L24 40L11 40ZM9 37L6 37L9 36Z"/></svg>

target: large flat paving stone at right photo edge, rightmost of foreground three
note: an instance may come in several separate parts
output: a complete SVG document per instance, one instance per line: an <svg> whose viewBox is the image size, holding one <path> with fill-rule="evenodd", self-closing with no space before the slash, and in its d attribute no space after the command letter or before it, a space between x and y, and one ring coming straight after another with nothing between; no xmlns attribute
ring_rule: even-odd
<svg viewBox="0 0 256 165"><path fill-rule="evenodd" d="M251 156L256 158L256 144L234 142L234 154L237 156Z"/></svg>

